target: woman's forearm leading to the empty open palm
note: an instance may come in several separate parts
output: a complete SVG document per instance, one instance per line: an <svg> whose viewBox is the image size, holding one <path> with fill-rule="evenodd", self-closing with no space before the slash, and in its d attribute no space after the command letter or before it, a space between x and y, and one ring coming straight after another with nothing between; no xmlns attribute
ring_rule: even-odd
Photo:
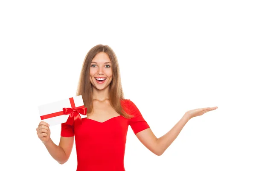
<svg viewBox="0 0 256 171"><path fill-rule="evenodd" d="M180 121L178 121L169 132L157 139L157 151L159 155L163 154L172 144L188 121L189 117L183 115Z"/></svg>

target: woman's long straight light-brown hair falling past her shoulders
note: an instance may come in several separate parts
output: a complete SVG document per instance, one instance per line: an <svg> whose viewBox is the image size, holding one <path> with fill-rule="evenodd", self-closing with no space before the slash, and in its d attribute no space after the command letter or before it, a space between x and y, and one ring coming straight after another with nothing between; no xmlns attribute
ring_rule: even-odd
<svg viewBox="0 0 256 171"><path fill-rule="evenodd" d="M93 58L99 52L105 52L108 54L111 61L111 69L113 79L110 83L110 104L113 109L124 116L125 118L131 118L132 116L127 114L121 106L121 102L124 99L124 93L122 90L121 77L119 64L116 58L116 54L108 45L96 45L89 50L86 54L83 66L80 73L79 84L76 95L82 95L84 101L84 107L87 107L87 113L93 111L93 87L90 83L90 64Z"/></svg>

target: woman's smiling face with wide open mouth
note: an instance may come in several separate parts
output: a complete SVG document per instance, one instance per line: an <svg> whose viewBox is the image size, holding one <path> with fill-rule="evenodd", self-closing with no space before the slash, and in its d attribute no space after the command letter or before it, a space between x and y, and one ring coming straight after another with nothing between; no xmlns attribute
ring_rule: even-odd
<svg viewBox="0 0 256 171"><path fill-rule="evenodd" d="M112 81L111 61L107 53L97 53L90 64L90 83L98 90L109 87Z"/></svg>

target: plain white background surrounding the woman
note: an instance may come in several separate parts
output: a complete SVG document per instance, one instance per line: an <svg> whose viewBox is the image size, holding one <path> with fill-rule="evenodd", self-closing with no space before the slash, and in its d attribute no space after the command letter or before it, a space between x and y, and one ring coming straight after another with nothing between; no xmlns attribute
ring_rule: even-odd
<svg viewBox="0 0 256 171"><path fill-rule="evenodd" d="M115 51L125 98L157 137L191 109L162 156L129 127L126 171L256 170L256 11L253 0L1 1L1 171L75 171L36 134L38 105L76 94L82 62L97 44ZM51 127L58 144L60 126Z"/></svg>

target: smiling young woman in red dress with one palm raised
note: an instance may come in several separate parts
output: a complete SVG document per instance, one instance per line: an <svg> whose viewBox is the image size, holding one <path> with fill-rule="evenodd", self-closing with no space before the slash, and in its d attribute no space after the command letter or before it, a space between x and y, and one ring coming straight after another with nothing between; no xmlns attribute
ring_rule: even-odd
<svg viewBox="0 0 256 171"><path fill-rule="evenodd" d="M69 159L75 138L77 171L125 171L128 126L148 150L160 156L191 118L218 108L190 110L169 132L157 138L136 105L124 98L118 61L107 45L96 45L87 53L77 95L82 95L87 118L80 125L62 123L59 145L50 138L49 124L41 121L36 129L49 154L60 164Z"/></svg>

